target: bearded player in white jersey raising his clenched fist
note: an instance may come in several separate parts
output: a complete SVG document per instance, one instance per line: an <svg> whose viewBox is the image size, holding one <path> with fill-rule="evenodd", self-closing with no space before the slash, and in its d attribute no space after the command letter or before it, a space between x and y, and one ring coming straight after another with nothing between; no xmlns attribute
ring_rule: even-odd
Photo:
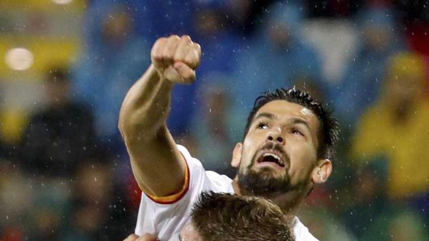
<svg viewBox="0 0 429 241"><path fill-rule="evenodd" d="M307 93L280 89L259 96L250 112L245 136L237 143L232 166L238 174L205 171L185 147L176 145L166 126L174 84L192 83L201 48L189 36L159 38L152 64L127 93L119 130L144 192L136 234L161 241L178 240L203 191L262 196L294 215L314 185L331 174L338 125ZM315 241L294 217L297 241Z"/></svg>

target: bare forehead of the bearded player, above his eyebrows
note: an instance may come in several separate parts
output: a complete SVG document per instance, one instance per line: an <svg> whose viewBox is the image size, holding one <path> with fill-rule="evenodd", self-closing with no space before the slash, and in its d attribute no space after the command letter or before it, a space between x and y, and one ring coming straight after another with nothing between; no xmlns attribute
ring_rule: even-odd
<svg viewBox="0 0 429 241"><path fill-rule="evenodd" d="M279 120L287 120L289 118L302 118L306 120L313 130L317 130L319 122L314 112L302 105L292 103L286 100L273 100L263 105L256 112L255 116L259 113L272 113Z"/></svg>

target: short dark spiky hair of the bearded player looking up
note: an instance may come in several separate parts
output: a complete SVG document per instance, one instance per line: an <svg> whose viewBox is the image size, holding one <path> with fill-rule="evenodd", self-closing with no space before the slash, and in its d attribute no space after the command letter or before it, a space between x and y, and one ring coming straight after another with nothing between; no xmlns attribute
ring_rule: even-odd
<svg viewBox="0 0 429 241"><path fill-rule="evenodd" d="M274 92L265 92L256 98L252 111L250 111L249 117L247 118L246 129L244 131L244 137L249 132L249 128L252 125L254 115L256 112L268 102L273 100L285 100L292 103L299 104L303 107L310 109L319 120L319 147L317 149L318 158L332 159L335 154L335 144L339 139L339 123L332 116L331 109L314 100L308 93L300 91L296 88L292 89L277 89Z"/></svg>

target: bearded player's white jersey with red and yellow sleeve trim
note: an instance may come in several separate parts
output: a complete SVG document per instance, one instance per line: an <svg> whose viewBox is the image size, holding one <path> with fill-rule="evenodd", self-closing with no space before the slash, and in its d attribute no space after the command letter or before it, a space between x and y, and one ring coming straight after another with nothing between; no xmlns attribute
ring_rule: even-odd
<svg viewBox="0 0 429 241"><path fill-rule="evenodd" d="M141 195L136 234L154 234L160 241L179 241L178 234L191 216L192 207L204 191L234 193L233 180L214 171L206 171L198 159L180 145L177 148L187 163L186 181L182 192L162 198ZM297 217L293 222L296 241L318 241Z"/></svg>

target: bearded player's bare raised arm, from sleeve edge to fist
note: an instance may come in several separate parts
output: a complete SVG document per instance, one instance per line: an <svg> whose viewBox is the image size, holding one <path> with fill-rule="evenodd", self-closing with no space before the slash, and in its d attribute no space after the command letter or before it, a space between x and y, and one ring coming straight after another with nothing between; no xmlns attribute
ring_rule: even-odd
<svg viewBox="0 0 429 241"><path fill-rule="evenodd" d="M122 103L118 127L139 187L164 197L185 183L186 164L166 126L171 89L195 80L201 48L189 36L156 40L152 64L131 87Z"/></svg>

